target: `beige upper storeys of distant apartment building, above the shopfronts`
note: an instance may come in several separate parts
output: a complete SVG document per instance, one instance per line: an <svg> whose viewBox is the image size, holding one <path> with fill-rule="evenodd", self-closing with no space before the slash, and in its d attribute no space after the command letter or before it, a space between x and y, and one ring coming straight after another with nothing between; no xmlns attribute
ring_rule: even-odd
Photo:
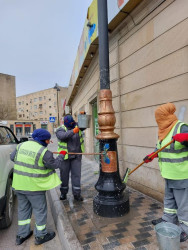
<svg viewBox="0 0 188 250"><path fill-rule="evenodd" d="M50 88L17 97L17 119L26 121L49 121L49 117L54 116L56 118L54 126L57 127L58 109L59 119L61 119L63 116L63 103L66 99L66 94L67 88L60 87L58 93L56 89Z"/></svg>

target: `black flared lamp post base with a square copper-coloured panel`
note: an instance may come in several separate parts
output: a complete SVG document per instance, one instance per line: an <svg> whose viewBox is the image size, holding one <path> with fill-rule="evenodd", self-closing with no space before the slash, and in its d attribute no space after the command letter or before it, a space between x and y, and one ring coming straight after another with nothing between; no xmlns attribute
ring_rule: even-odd
<svg viewBox="0 0 188 250"><path fill-rule="evenodd" d="M110 163L105 163L101 157L99 179L95 185L98 194L93 200L94 213L109 218L120 217L129 212L129 194L124 192L126 185L119 175L116 140L100 140L100 152L106 143L109 144L107 155Z"/></svg>

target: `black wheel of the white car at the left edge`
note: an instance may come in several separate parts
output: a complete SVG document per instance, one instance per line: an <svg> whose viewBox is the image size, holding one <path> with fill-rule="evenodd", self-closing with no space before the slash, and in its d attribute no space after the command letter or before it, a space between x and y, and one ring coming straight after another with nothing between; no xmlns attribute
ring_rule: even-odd
<svg viewBox="0 0 188 250"><path fill-rule="evenodd" d="M9 178L6 188L6 204L3 218L0 220L0 228L7 228L12 223L14 207L14 193L12 190L12 180Z"/></svg>

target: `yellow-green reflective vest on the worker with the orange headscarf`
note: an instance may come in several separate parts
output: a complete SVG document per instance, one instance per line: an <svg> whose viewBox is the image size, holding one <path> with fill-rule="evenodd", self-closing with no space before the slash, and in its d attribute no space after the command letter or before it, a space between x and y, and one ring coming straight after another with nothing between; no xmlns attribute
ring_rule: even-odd
<svg viewBox="0 0 188 250"><path fill-rule="evenodd" d="M181 126L184 124L185 123L178 121L165 139L162 142L158 141L157 149L160 149L171 141L172 136L180 133ZM175 141L159 152L158 159L163 178L171 180L183 180L188 178L188 148L183 146L180 142Z"/></svg>

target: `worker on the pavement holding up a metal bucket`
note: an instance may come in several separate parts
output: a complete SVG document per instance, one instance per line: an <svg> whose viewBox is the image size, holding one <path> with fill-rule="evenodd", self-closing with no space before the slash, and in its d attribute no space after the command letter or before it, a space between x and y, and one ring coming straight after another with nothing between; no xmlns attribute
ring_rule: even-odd
<svg viewBox="0 0 188 250"><path fill-rule="evenodd" d="M71 115L64 117L64 124L60 126L56 131L58 139L58 152L64 152L64 160L62 168L60 169L61 174L61 196L60 200L67 199L67 193L69 189L69 174L71 172L72 181L72 193L76 201L83 201L81 196L81 160L82 155L71 154L68 152L83 153L84 152L84 140L82 132L77 126Z"/></svg>

